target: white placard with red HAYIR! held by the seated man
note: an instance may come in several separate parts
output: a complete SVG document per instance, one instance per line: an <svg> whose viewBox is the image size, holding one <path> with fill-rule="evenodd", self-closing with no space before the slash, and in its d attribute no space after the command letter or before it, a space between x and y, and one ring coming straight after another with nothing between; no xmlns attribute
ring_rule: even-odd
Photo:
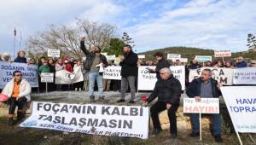
<svg viewBox="0 0 256 145"><path fill-rule="evenodd" d="M218 98L201 98L201 102L183 98L183 113L219 113Z"/></svg>

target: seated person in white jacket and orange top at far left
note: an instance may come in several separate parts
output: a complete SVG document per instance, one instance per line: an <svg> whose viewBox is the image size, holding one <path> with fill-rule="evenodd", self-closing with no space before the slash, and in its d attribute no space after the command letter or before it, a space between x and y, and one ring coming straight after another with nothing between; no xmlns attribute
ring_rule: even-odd
<svg viewBox="0 0 256 145"><path fill-rule="evenodd" d="M15 71L8 84L3 88L3 95L9 96L9 125L14 125L15 107L18 107L17 120L21 120L25 117L22 108L26 102L30 102L31 86L22 79L20 71Z"/></svg>

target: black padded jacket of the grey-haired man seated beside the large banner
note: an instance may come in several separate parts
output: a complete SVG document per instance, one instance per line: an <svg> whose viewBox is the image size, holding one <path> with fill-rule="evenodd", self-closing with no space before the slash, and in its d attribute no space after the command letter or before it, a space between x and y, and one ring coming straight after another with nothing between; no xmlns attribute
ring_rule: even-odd
<svg viewBox="0 0 256 145"><path fill-rule="evenodd" d="M160 102L178 103L182 92L181 88L180 82L173 76L167 80L160 79L156 82L154 90L148 97L147 102L152 102L158 97L158 101Z"/></svg>

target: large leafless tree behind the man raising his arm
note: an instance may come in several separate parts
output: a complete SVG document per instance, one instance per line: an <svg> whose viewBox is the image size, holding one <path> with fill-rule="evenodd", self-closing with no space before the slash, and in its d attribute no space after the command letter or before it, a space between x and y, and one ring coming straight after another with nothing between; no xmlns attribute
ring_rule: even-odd
<svg viewBox="0 0 256 145"><path fill-rule="evenodd" d="M115 31L115 26L89 20L77 20L76 26L50 25L44 32L29 37L26 49L33 54L44 54L48 49L60 49L62 55L81 58L83 53L79 45L82 37L86 38L84 43L87 49L93 45L108 49Z"/></svg>

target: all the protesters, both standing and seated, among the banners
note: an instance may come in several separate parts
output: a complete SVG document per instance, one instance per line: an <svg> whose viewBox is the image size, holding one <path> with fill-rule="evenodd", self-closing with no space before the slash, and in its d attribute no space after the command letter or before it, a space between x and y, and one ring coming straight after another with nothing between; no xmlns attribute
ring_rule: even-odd
<svg viewBox="0 0 256 145"><path fill-rule="evenodd" d="M98 90L98 101L105 102L103 91L119 90L120 98L117 102L125 102L125 93L131 91L131 98L127 103L135 103L135 94L137 88L137 67L140 66L155 66L155 68L147 67L150 73L156 73L157 82L154 86L154 90L146 98L145 105L147 106L150 102L157 97L158 101L150 107L151 118L154 125L154 135L158 135L162 131L159 120L159 113L167 110L169 121L170 121L170 133L172 138L177 137L177 119L176 112L179 106L180 96L182 93L181 84L174 78L170 66L184 66L185 67L185 81L186 81L186 94L195 98L196 101L200 102L201 98L218 98L220 96L220 86L212 78L212 70L205 68L200 78L195 78L189 84L189 71L198 69L201 67L226 67L226 68L241 68L241 67L256 67L256 61L245 61L243 57L239 56L235 60L229 61L207 61L198 62L194 58L189 64L176 61L169 61L165 59L165 56L161 52L154 54L154 61L143 61L139 60L136 53L131 49L130 45L125 45L123 54L119 55L119 64L114 64L114 61L107 61L106 56L101 54L101 48L94 46L92 51L85 48L85 38L82 38L80 42L80 49L86 55L86 60L76 60L74 57L62 57L60 59L48 59L42 56L37 62L34 58L26 58L25 51L19 51L15 62L26 63L28 65L38 65L38 84L39 91L46 90L44 83L41 83L40 76L42 73L57 73L61 70L66 70L69 73L73 73L78 68L84 73L84 81L76 84L64 85L49 83L49 90L88 90L90 96L90 102L96 102L94 92ZM1 61L9 61L9 54L2 54ZM120 66L121 67L121 80L108 80L103 79L101 67L108 66ZM31 87L26 79L21 78L22 74L20 71L13 73L12 80L4 87L3 96L8 96L9 99L9 125L14 125L15 107L17 110L17 120L24 118L24 112L22 107L26 102L30 101L29 94L31 93ZM55 75L54 75L55 76ZM190 114L192 123L192 132L189 136L199 136L199 117L198 114ZM221 119L220 114L212 114L213 120L213 136L216 142L223 142L221 137Z"/></svg>

